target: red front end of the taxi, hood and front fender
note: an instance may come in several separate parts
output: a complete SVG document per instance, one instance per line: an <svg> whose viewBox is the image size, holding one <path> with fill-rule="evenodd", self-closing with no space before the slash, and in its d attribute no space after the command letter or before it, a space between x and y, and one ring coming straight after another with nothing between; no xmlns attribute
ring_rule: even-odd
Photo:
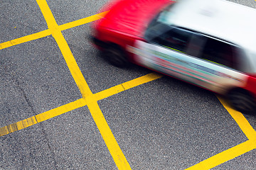
<svg viewBox="0 0 256 170"><path fill-rule="evenodd" d="M127 45L134 45L134 40L144 40L144 32L161 9L173 4L169 0L117 0L106 4L101 11L109 11L105 18L92 24L95 30L94 38L97 42L112 42L123 49ZM138 10L139 8L139 10ZM97 44L101 49L101 45ZM129 61L133 62L134 55L129 54Z"/></svg>

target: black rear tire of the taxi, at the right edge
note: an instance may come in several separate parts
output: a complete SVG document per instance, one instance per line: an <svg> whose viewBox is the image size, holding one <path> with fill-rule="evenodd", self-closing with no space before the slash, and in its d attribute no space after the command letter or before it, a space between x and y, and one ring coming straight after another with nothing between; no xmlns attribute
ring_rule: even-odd
<svg viewBox="0 0 256 170"><path fill-rule="evenodd" d="M244 89L235 89L228 94L230 105L245 114L256 114L255 98Z"/></svg>

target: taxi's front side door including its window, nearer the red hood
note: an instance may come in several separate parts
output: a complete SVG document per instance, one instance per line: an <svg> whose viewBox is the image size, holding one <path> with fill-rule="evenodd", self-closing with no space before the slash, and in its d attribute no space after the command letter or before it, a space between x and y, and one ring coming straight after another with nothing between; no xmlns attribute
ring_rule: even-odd
<svg viewBox="0 0 256 170"><path fill-rule="evenodd" d="M154 69L164 74L195 83L198 79L188 66L195 60L187 54L188 44L194 33L176 27L161 26L149 42L137 40L135 47L130 48L135 62L144 67Z"/></svg>

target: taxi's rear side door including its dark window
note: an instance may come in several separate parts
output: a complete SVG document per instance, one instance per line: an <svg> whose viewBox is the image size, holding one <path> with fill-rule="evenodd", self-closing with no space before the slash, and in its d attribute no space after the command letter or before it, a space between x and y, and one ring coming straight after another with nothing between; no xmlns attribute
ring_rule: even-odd
<svg viewBox="0 0 256 170"><path fill-rule="evenodd" d="M248 77L240 67L245 62L240 47L208 35L200 36L205 41L197 55L198 60L191 63L193 70L203 77L199 85L218 93L243 88Z"/></svg>

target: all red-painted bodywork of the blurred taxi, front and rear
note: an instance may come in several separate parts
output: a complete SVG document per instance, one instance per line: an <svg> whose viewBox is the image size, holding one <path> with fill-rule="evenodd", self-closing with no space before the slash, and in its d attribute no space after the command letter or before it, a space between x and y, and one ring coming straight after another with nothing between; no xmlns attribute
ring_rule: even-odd
<svg viewBox="0 0 256 170"><path fill-rule="evenodd" d="M137 55L127 50L127 47L134 47L134 43L137 40L146 42L144 34L149 23L151 23L156 15L164 10L166 6L170 6L174 3L175 1L169 0L111 1L110 4L107 4L101 10L109 11L105 17L92 23L92 30L94 31L92 35L93 42L100 50L104 50L110 44L118 45L126 53L129 62L134 62L135 64L145 67L145 65L137 62ZM165 74L165 72L162 73ZM246 81L239 86L235 86L235 90L237 90L240 95L248 93L248 95L252 96L250 100L256 103L256 78L252 74L242 74ZM219 93L215 90L211 91ZM228 92L225 91L225 94L228 94Z"/></svg>

